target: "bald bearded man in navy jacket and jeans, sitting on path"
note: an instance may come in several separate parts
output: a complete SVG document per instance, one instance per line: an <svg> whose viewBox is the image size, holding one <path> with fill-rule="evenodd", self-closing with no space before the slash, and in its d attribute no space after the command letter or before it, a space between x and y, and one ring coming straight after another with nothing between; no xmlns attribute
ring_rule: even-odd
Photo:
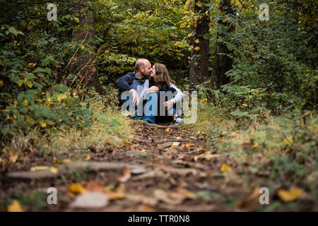
<svg viewBox="0 0 318 226"><path fill-rule="evenodd" d="M116 85L119 89L119 106L126 100L122 100L122 93L129 91L132 94L132 102L137 107L139 104L145 104L147 93L149 91L158 92L158 87L152 86L149 88L148 77L151 74L151 63L148 59L138 59L135 65L135 71L129 72L121 78L117 79ZM142 114L143 115L143 114ZM135 116L133 119L144 119L148 122L155 123L155 117Z"/></svg>

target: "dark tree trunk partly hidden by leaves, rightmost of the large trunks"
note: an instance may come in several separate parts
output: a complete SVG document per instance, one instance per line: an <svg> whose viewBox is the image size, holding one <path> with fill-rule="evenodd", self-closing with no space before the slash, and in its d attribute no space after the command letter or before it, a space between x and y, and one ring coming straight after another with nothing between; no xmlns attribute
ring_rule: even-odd
<svg viewBox="0 0 318 226"><path fill-rule="evenodd" d="M232 6L230 4L230 0L223 0L220 2L220 11L226 14L233 14ZM223 22L223 20L218 21L219 24L222 24L228 28L228 32L231 32L235 29L233 25L230 25L228 21ZM219 38L224 37L226 35L225 32L221 34L217 34L217 42L216 42L216 66L211 73L211 83L212 87L215 89L219 89L221 85L227 84L230 82L230 78L225 75L226 72L232 69L232 59L224 54L231 54L225 42L219 42Z"/></svg>

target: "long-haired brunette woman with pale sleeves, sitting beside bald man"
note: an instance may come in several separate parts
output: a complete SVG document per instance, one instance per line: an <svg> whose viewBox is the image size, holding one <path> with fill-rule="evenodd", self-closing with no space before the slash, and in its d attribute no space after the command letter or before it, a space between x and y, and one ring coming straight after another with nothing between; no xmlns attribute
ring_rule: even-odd
<svg viewBox="0 0 318 226"><path fill-rule="evenodd" d="M153 86L151 86L153 84ZM148 88L147 93L158 93L158 92L172 92L175 97L171 95L165 96L165 100L160 100L160 95L158 95L158 112L160 112L160 107L165 107L165 116L158 116L155 121L174 121L175 124L179 124L183 119L180 117L182 114L181 105L176 105L182 101L184 95L179 90L172 79L169 76L167 68L163 64L155 63L151 70L151 88ZM178 107L177 107L178 106Z"/></svg>

